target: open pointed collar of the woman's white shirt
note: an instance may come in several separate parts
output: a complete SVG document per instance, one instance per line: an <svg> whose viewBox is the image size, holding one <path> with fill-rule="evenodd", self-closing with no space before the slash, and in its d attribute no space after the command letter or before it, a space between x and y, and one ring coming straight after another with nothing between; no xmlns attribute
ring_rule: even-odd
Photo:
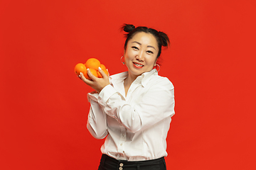
<svg viewBox="0 0 256 170"><path fill-rule="evenodd" d="M146 86L149 82L149 77L151 75L158 75L156 69L152 69L150 72L144 72L142 75L138 76L137 79L134 80L134 84L142 84L142 86ZM128 72L122 72L119 74L114 74L110 76L110 84L121 83L128 76Z"/></svg>

